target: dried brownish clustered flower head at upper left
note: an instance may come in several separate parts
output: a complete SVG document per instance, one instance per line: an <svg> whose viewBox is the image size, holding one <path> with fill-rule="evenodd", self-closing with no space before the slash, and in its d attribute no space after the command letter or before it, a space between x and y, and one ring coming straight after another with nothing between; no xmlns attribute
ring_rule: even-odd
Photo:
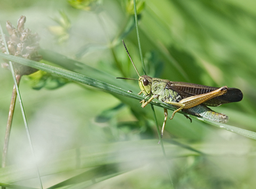
<svg viewBox="0 0 256 189"><path fill-rule="evenodd" d="M39 36L37 33L31 33L31 30L26 28L24 29L24 23L26 21L25 16L20 16L17 23L17 28L15 28L9 21L6 21L6 29L9 36L5 36L9 54L14 56L23 57L26 59L39 61L42 59L38 55L37 50L39 49ZM3 53L6 53L2 39L0 38L0 49ZM9 65L6 63L2 64L2 67L9 68ZM12 63L14 72L16 75L29 75L36 72L34 68L23 66L18 63Z"/></svg>

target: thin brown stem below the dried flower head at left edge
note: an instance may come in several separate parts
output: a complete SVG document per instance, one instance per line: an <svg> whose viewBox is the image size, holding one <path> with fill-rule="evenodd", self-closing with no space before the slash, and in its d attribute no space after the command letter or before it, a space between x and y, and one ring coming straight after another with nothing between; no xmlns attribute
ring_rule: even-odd
<svg viewBox="0 0 256 189"><path fill-rule="evenodd" d="M21 78L21 75L16 75L17 85L19 84L20 78ZM12 122L12 117L13 117L13 112L14 112L14 107L16 102L16 96L17 96L17 93L14 85L12 90L11 100L10 100L9 114L8 114L6 131L4 136L4 144L3 144L3 151L2 151L2 167L6 167L7 149L8 149L9 137L10 137L10 127L11 127L11 122Z"/></svg>

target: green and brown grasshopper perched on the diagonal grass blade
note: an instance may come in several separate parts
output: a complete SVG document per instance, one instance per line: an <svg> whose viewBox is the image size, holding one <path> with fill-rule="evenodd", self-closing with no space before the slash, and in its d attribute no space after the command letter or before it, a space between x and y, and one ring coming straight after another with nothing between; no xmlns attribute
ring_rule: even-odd
<svg viewBox="0 0 256 189"><path fill-rule="evenodd" d="M141 92L138 95L146 95L145 99L140 101L141 107L148 105L153 99L158 99L164 104L171 105L177 109L172 113L170 119L173 119L175 113L182 110L188 114L204 117L209 120L226 123L229 117L223 113L218 113L208 106L220 106L225 103L238 102L243 99L243 93L236 88L227 86L216 88L191 84L185 82L172 82L165 79L152 78L147 75L140 76L139 72L132 61L132 58L123 41L126 52L137 72L139 79L117 78L127 80L138 80ZM147 98L149 98L147 100ZM164 123L162 126L161 136L163 137L168 111L164 108ZM187 115L185 115L189 118ZM191 118L189 118L191 120ZM192 120L191 120L192 121Z"/></svg>

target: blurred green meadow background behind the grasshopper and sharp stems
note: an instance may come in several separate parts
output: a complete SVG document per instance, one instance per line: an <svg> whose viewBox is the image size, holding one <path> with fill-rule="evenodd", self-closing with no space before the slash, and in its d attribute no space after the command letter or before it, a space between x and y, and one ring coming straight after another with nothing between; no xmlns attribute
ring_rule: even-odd
<svg viewBox="0 0 256 189"><path fill-rule="evenodd" d="M137 2L147 74L170 81L239 88L241 102L213 108L228 124L256 131L256 2L253 0L146 0ZM1 0L0 23L41 38L41 54L59 53L80 64L51 62L138 93L138 78L123 39L143 75L129 0ZM59 55L59 57L60 57ZM3 61L2 61L3 62ZM67 61L68 62L68 61ZM104 72L86 72L87 65ZM0 146L13 87L0 68ZM36 90L35 90L36 89ZM28 126L44 188L250 189L256 186L256 143L244 136L176 114L167 121L164 160L150 107L138 100L36 73L20 83ZM163 109L155 107L158 124ZM169 114L171 112L169 111ZM0 148L0 150L2 147ZM8 167L0 183L38 188L17 103ZM170 171L170 177L168 174ZM70 180L69 180L70 179Z"/></svg>

